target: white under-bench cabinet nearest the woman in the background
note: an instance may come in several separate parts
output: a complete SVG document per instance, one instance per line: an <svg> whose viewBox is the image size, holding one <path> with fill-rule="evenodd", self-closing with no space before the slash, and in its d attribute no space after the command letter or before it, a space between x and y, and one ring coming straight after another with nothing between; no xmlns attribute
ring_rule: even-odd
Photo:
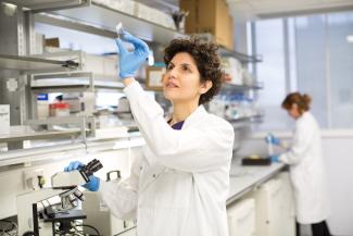
<svg viewBox="0 0 353 236"><path fill-rule="evenodd" d="M287 173L263 184L253 198L256 206L256 236L295 234L292 190Z"/></svg>

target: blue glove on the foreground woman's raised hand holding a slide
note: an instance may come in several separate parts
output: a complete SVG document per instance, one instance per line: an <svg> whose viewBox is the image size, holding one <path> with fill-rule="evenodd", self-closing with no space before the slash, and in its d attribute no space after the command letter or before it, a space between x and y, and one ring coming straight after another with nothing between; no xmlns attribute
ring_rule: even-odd
<svg viewBox="0 0 353 236"><path fill-rule="evenodd" d="M119 77L134 77L136 71L148 58L150 50L144 41L130 35L128 32L122 30L122 36L123 40L130 42L134 46L135 50L133 52L127 51L123 45L122 39L115 39L119 54Z"/></svg>

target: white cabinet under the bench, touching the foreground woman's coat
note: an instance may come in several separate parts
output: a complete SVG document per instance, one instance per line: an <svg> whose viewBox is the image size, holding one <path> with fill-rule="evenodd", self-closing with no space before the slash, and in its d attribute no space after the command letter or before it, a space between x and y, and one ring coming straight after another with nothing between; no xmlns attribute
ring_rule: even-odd
<svg viewBox="0 0 353 236"><path fill-rule="evenodd" d="M255 201L245 199L227 209L229 236L254 236Z"/></svg>

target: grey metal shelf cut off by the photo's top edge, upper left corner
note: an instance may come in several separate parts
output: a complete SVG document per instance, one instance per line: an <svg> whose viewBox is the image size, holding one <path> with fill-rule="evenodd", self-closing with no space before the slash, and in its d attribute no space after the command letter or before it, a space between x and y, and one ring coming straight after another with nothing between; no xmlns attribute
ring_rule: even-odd
<svg viewBox="0 0 353 236"><path fill-rule="evenodd" d="M4 0L36 12L55 11L62 9L79 8L88 5L90 0Z"/></svg>

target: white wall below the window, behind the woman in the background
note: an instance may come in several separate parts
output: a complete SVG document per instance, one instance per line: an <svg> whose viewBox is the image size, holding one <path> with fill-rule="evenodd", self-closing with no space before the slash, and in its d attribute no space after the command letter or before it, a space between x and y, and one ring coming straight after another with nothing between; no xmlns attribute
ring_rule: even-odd
<svg viewBox="0 0 353 236"><path fill-rule="evenodd" d="M275 133L290 139L290 133ZM323 131L323 151L327 167L332 214L328 224L332 235L353 235L353 131ZM266 154L265 133L243 142L237 156Z"/></svg>

